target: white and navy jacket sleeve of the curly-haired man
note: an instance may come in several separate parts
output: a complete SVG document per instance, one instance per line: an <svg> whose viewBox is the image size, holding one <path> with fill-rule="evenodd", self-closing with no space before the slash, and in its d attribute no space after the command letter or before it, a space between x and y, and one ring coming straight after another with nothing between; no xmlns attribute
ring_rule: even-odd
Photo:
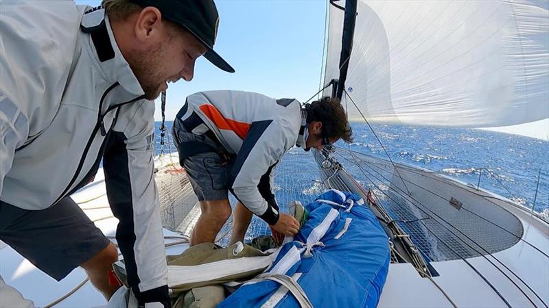
<svg viewBox="0 0 549 308"><path fill-rule="evenodd" d="M270 225L277 223L279 211L266 201L266 196L274 198L274 195L265 182L269 180L268 170L289 149L288 136L291 135L289 125L281 120L252 123L231 169L231 192L253 214Z"/></svg>

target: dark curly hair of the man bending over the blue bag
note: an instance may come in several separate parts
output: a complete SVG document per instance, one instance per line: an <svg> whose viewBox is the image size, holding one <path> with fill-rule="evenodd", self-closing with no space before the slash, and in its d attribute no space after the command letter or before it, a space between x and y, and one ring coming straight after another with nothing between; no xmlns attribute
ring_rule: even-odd
<svg viewBox="0 0 549 308"><path fill-rule="evenodd" d="M347 143L353 142L353 129L339 99L324 97L320 101L312 102L307 112L307 123L312 121L322 123L323 136L329 139L341 138Z"/></svg>

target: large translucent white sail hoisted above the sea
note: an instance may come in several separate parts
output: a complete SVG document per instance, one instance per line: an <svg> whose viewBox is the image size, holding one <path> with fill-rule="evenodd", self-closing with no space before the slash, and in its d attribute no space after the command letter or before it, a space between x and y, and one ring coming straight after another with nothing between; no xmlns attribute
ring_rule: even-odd
<svg viewBox="0 0 549 308"><path fill-rule="evenodd" d="M377 123L496 127L548 118L548 8L359 0L345 88ZM343 16L329 5L325 84L339 78ZM362 120L347 105L349 118Z"/></svg>

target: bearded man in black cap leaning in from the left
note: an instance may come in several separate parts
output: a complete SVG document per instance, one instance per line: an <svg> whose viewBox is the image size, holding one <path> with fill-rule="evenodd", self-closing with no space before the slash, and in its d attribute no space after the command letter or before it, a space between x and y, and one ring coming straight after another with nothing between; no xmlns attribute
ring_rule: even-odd
<svg viewBox="0 0 549 308"><path fill-rule="evenodd" d="M167 82L190 81L200 55L234 70L213 51L212 0L103 5L2 3L0 240L57 280L82 266L110 298L117 250L69 197L102 161L132 291L142 304L167 307L150 100ZM1 305L19 305L3 288Z"/></svg>

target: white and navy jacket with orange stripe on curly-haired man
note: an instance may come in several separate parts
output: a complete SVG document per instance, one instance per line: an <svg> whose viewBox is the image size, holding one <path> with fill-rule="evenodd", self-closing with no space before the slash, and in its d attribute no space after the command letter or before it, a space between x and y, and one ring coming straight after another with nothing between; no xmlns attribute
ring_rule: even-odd
<svg viewBox="0 0 549 308"><path fill-rule="evenodd" d="M276 223L278 211L266 201L268 194L274 198L270 185L258 185L265 182L272 167L296 144L301 125L299 101L231 90L198 92L187 97L174 127L185 126L187 120L196 116L202 124L192 125L191 132L212 131L226 151L236 155L231 192L253 214L268 224Z"/></svg>

